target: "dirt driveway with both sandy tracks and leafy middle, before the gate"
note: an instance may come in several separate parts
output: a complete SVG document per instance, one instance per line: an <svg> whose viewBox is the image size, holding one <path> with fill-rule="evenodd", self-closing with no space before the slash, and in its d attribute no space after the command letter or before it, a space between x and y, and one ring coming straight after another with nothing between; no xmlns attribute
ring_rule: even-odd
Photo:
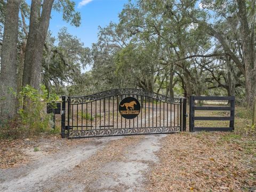
<svg viewBox="0 0 256 192"><path fill-rule="evenodd" d="M154 152L165 136L94 138L38 154L27 165L1 170L0 191L144 191L145 172L158 161Z"/></svg>

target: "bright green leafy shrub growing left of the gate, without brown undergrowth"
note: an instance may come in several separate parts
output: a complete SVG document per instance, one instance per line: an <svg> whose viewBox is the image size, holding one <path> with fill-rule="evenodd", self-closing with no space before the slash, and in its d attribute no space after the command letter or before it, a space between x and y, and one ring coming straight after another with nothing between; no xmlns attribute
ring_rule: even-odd
<svg viewBox="0 0 256 192"><path fill-rule="evenodd" d="M50 94L41 85L41 91L27 85L17 95L20 106L19 115L19 131L28 135L37 134L39 132L49 131L51 129L51 114L46 114L46 103L58 100L56 94Z"/></svg>

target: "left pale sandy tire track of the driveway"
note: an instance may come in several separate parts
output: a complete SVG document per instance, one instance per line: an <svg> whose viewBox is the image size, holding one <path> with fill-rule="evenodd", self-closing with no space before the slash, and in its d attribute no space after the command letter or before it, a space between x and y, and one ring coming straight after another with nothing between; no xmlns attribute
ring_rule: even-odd
<svg viewBox="0 0 256 192"><path fill-rule="evenodd" d="M0 170L0 191L42 191L43 185L47 185L52 178L69 172L75 165L90 158L111 140L122 138L95 138L70 149L64 146L60 153L44 156L28 165Z"/></svg>

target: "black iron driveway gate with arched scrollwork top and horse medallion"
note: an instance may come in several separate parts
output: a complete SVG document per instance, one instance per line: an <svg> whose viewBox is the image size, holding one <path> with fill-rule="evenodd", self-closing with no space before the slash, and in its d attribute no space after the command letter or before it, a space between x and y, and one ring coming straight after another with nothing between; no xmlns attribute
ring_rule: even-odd
<svg viewBox="0 0 256 192"><path fill-rule="evenodd" d="M184 106L185 98L170 98L138 89L109 90L83 97L63 96L61 135L81 138L185 131Z"/></svg>

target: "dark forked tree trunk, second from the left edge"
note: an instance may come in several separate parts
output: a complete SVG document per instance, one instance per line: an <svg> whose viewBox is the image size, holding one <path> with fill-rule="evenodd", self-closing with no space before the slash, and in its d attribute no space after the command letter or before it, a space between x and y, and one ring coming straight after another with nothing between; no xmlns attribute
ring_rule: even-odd
<svg viewBox="0 0 256 192"><path fill-rule="evenodd" d="M33 0L31 2L22 85L28 84L38 90L42 78L44 42L49 28L53 1L44 1L41 15L41 1Z"/></svg>

